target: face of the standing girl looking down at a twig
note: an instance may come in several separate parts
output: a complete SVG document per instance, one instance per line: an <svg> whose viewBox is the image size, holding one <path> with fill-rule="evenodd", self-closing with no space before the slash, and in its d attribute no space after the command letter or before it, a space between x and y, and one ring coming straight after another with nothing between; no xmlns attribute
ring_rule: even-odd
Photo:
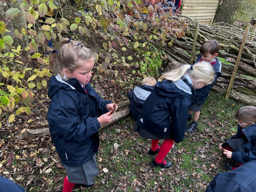
<svg viewBox="0 0 256 192"><path fill-rule="evenodd" d="M67 78L76 78L81 85L87 84L92 77L92 68L94 66L94 60L78 60L80 66L76 70L71 72L65 72Z"/></svg>

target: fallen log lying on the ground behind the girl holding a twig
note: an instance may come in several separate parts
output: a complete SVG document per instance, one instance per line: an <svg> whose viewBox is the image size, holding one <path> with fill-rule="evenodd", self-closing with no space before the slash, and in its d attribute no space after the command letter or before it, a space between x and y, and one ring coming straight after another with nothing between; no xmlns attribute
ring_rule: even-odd
<svg viewBox="0 0 256 192"><path fill-rule="evenodd" d="M130 114L130 109L128 106L129 104L130 104L129 100L124 100L120 102L118 104L118 108L122 110L118 109L118 111L114 113L112 120L108 124L103 124L99 130L101 130L102 128L106 128L107 126L113 124L114 122ZM33 129L33 130L26 129L26 131L20 132L16 141L20 141L28 138L38 138L48 134L50 134L49 128L41 128L41 129Z"/></svg>

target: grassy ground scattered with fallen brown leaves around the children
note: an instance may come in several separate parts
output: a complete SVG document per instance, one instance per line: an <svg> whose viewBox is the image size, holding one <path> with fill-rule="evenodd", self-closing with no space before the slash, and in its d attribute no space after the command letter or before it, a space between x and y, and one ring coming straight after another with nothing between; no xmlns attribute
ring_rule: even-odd
<svg viewBox="0 0 256 192"><path fill-rule="evenodd" d="M122 100L131 88L119 90L113 97ZM113 90L106 88L104 91L110 94ZM35 94L30 116L20 116L12 124L2 118L0 176L14 180L31 192L62 191L65 171L50 135L17 140L24 128L48 127L46 108L50 99L46 97L47 90ZM210 92L202 108L198 130L186 133L183 142L176 144L166 157L173 163L169 169L150 166L154 158L147 154L150 140L133 133L132 116L121 119L100 131L97 156L100 174L95 178L95 186L74 191L204 192L210 180L225 171L224 163L230 161L218 150L218 145L236 132L234 115L241 106L232 100L225 101L223 94Z"/></svg>

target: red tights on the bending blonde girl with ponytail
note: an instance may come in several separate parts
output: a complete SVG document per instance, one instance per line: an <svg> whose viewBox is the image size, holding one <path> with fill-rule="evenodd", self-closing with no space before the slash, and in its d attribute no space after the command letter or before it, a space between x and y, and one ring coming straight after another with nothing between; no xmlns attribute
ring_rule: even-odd
<svg viewBox="0 0 256 192"><path fill-rule="evenodd" d="M152 139L152 147L151 150L155 151L158 148L158 142L159 140L154 140ZM166 139L164 140L164 142L162 143L159 153L156 156L155 160L158 164L164 162L164 164L166 164L166 161L164 160L165 156L168 154L168 152L171 150L173 146L173 142L172 139Z"/></svg>

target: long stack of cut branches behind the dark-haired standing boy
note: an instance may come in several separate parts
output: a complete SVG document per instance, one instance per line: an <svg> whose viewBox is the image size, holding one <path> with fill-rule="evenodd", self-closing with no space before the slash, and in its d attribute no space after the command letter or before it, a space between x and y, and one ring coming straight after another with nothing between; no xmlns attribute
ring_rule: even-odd
<svg viewBox="0 0 256 192"><path fill-rule="evenodd" d="M172 42L173 46L164 46L162 50L166 52L166 60L168 62L178 61L183 64L190 64L191 57L189 54L192 54L196 21L186 16L176 15L176 17L180 20L187 20L188 28L185 32L186 36L177 39L170 37L166 41L166 44ZM218 56L225 58L229 62L227 64L222 63L222 76L218 78L213 87L213 89L219 92L225 93L227 91L244 34L244 30L234 28L228 24L199 24L196 50L199 51L200 46L204 42L215 39L220 43L221 47ZM250 105L256 105L255 39L256 35L249 32L236 72L233 89L230 92L230 97Z"/></svg>

